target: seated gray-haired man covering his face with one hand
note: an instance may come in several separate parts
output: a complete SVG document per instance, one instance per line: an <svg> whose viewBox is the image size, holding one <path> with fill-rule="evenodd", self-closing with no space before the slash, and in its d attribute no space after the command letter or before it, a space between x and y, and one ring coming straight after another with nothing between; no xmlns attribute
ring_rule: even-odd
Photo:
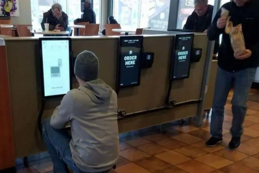
<svg viewBox="0 0 259 173"><path fill-rule="evenodd" d="M64 31L68 30L68 16L62 12L62 6L59 3L52 5L48 12L43 13L41 28L45 30L44 23L49 23L49 31L54 29Z"/></svg>

